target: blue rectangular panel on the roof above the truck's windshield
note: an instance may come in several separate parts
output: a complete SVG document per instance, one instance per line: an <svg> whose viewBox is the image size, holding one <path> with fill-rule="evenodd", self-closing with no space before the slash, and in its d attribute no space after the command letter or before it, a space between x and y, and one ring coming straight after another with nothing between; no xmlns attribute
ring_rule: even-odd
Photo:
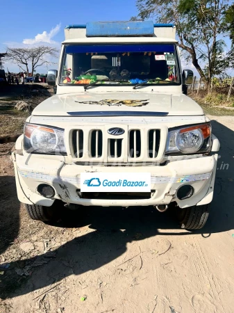
<svg viewBox="0 0 234 313"><path fill-rule="evenodd" d="M153 21L144 22L88 22L87 37L133 37L154 35Z"/></svg>

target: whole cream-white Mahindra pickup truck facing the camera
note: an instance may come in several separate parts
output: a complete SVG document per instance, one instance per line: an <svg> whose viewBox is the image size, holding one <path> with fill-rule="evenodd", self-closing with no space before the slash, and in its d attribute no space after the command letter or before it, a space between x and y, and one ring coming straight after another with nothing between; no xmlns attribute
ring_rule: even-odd
<svg viewBox="0 0 234 313"><path fill-rule="evenodd" d="M12 159L17 194L35 220L58 202L172 207L181 227L205 225L219 141L190 97L176 29L153 22L90 22L65 29L57 93L26 120ZM111 208L110 208L111 209Z"/></svg>

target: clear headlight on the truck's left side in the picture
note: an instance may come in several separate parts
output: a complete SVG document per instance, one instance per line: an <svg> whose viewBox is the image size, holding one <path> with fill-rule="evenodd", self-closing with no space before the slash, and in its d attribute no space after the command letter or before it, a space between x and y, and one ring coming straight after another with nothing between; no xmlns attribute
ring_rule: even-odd
<svg viewBox="0 0 234 313"><path fill-rule="evenodd" d="M64 144L64 129L26 123L24 150L41 154L67 154Z"/></svg>

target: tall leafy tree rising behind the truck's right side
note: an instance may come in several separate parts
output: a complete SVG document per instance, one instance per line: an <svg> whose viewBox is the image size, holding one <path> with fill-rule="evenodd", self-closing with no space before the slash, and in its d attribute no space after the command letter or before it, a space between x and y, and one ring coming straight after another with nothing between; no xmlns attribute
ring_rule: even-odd
<svg viewBox="0 0 234 313"><path fill-rule="evenodd" d="M138 17L156 17L162 23L174 23L178 45L192 60L203 81L210 86L212 77L219 72L224 56L227 0L137 0ZM217 57L219 62L217 62ZM225 58L225 56L224 56ZM206 70L202 68L206 63Z"/></svg>

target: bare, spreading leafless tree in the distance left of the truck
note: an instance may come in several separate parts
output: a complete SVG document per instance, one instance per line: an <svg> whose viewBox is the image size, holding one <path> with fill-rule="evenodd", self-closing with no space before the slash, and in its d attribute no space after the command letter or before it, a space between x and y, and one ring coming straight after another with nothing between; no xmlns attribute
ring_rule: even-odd
<svg viewBox="0 0 234 313"><path fill-rule="evenodd" d="M38 46L32 48L7 48L7 60L17 64L24 72L29 73L29 66L31 73L42 65L56 64L49 61L48 58L58 58L58 49L47 46Z"/></svg>

